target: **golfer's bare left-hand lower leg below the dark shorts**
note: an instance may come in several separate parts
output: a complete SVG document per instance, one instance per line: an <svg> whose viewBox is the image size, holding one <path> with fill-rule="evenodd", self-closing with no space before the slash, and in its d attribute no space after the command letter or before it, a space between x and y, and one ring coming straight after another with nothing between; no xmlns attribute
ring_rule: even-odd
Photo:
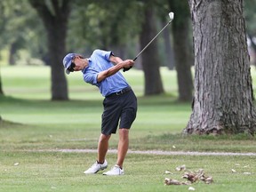
<svg viewBox="0 0 256 192"><path fill-rule="evenodd" d="M98 143L98 162L103 164L105 161L106 154L108 152L108 140L111 135L100 135L99 143Z"/></svg>

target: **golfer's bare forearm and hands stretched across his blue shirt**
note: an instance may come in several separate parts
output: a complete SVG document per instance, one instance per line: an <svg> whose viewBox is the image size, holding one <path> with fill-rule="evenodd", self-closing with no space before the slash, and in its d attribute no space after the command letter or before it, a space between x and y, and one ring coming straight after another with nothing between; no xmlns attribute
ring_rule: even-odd
<svg viewBox="0 0 256 192"><path fill-rule="evenodd" d="M119 60L117 59L115 61L118 62ZM105 78L107 78L108 76L113 76L114 74L116 74L116 72L118 72L122 68L130 68L130 67L132 67L133 64L134 64L133 60L122 60L121 62L116 63L116 65L113 66L112 68L108 68L108 70L101 71L98 74L98 76L97 76L97 81L101 82Z"/></svg>

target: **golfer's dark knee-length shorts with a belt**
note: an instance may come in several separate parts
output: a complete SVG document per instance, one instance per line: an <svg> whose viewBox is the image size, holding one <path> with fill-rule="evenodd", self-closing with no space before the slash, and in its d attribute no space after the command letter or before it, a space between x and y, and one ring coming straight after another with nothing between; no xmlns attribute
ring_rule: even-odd
<svg viewBox="0 0 256 192"><path fill-rule="evenodd" d="M103 100L103 107L101 133L110 135L116 133L119 121L119 128L131 128L136 118L137 98L132 90L120 95L113 94Z"/></svg>

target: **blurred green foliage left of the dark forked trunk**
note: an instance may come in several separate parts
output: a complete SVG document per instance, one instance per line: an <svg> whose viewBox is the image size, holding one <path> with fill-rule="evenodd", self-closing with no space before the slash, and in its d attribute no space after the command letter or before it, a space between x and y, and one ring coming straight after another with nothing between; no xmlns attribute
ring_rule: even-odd
<svg viewBox="0 0 256 192"><path fill-rule="evenodd" d="M20 60L21 49L29 52L29 58L44 56L44 28L28 1L4 0L0 2L0 9L0 50L6 46L12 48L16 60Z"/></svg>

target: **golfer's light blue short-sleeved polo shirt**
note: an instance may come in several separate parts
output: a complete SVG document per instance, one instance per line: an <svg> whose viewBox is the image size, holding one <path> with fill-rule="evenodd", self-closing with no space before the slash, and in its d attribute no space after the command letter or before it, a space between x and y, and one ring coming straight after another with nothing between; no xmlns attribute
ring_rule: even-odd
<svg viewBox="0 0 256 192"><path fill-rule="evenodd" d="M103 97L106 97L113 92L119 92L129 86L120 71L116 72L113 76L108 76L101 82L97 81L97 76L100 71L113 67L113 63L109 60L111 54L112 52L95 50L88 59L89 66L82 71L84 82L99 87Z"/></svg>

